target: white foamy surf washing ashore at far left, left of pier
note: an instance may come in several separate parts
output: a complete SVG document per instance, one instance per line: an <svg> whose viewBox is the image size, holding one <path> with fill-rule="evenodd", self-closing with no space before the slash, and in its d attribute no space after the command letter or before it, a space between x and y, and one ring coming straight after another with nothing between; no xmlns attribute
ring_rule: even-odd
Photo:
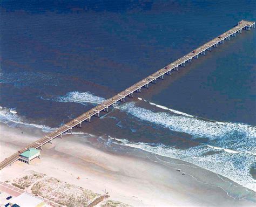
<svg viewBox="0 0 256 207"><path fill-rule="evenodd" d="M37 125L35 123L28 123L25 118L19 116L16 111L9 108L0 106L0 122L5 123L10 127L36 127L42 129L43 132L52 132L55 128L51 128L45 125Z"/></svg>

